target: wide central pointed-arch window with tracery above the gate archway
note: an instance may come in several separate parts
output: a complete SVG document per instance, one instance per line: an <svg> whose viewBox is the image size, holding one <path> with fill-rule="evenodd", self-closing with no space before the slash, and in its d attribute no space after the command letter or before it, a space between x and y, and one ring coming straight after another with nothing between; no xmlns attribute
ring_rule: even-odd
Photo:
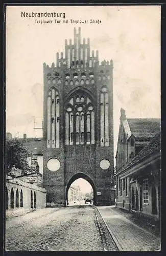
<svg viewBox="0 0 166 256"><path fill-rule="evenodd" d="M73 100L73 106L68 104ZM78 90L66 102L65 144L94 144L94 106L90 97Z"/></svg>

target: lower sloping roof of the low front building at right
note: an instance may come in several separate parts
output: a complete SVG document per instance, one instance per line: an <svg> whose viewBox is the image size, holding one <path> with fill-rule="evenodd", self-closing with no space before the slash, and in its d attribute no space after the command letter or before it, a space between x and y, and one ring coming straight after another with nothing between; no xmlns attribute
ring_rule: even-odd
<svg viewBox="0 0 166 256"><path fill-rule="evenodd" d="M159 153L161 151L161 132L159 132L151 141L149 144L147 144L143 150L141 150L135 157L128 162L123 168L122 172L130 168L133 165L136 165L137 163L143 161L144 159Z"/></svg>

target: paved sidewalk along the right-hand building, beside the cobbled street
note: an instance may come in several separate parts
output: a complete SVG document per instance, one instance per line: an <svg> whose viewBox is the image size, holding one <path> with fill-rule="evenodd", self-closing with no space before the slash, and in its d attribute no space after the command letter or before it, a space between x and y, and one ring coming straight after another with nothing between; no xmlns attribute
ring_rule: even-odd
<svg viewBox="0 0 166 256"><path fill-rule="evenodd" d="M97 207L120 251L160 250L160 239L138 227L113 210L114 206Z"/></svg>

